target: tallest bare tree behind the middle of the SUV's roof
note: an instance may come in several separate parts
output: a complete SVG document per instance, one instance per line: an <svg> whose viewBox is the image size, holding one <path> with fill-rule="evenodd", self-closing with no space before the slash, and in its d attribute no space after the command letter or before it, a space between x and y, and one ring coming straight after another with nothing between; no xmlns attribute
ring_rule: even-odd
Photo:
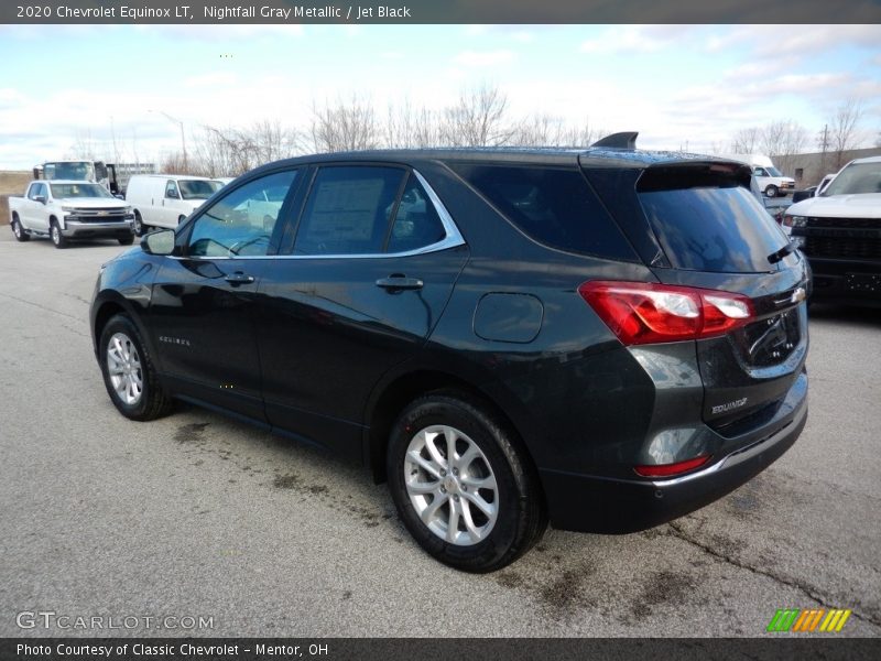
<svg viewBox="0 0 881 661"><path fill-rule="evenodd" d="M514 133L507 123L508 97L496 86L483 84L463 89L454 106L444 109L440 140L450 147L498 147Z"/></svg>

